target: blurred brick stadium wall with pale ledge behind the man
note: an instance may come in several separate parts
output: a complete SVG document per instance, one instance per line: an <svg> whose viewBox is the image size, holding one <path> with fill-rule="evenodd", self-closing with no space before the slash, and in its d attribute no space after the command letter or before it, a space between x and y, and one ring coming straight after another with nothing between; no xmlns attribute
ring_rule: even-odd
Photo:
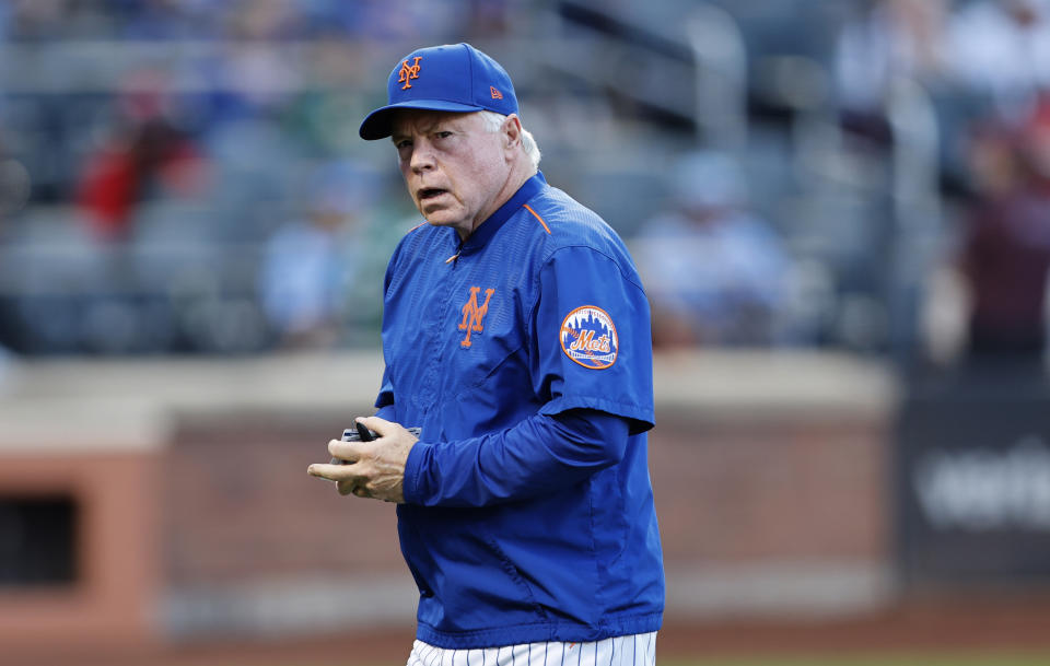
<svg viewBox="0 0 1050 666"><path fill-rule="evenodd" d="M71 583L0 586L0 643L408 626L392 505L305 474L371 412L374 352L34 361L0 385L0 498L78 507ZM675 619L877 609L895 594L898 396L877 362L656 360L651 470Z"/></svg>

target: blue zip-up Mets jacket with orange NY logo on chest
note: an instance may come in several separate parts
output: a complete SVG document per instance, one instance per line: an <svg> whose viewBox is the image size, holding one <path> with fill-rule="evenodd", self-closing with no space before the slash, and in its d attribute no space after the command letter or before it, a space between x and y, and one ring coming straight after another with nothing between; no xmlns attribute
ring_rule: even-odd
<svg viewBox="0 0 1050 666"><path fill-rule="evenodd" d="M645 293L537 174L463 243L422 224L385 279L378 416L422 428L397 509L417 636L450 649L655 631Z"/></svg>

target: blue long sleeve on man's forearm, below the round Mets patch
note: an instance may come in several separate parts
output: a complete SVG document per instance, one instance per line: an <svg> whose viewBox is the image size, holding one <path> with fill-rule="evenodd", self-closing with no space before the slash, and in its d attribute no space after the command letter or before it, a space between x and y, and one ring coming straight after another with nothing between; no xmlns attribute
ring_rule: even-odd
<svg viewBox="0 0 1050 666"><path fill-rule="evenodd" d="M405 467L405 501L485 506L579 483L623 458L628 430L625 418L573 409L441 446L420 441Z"/></svg>

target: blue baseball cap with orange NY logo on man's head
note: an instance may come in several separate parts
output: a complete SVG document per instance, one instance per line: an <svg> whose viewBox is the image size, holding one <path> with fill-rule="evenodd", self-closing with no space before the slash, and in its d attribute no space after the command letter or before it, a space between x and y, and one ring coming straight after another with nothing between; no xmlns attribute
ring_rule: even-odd
<svg viewBox="0 0 1050 666"><path fill-rule="evenodd" d="M469 44L420 48L405 56L386 83L388 104L365 117L362 139L390 136L390 119L399 108L445 112L517 113L511 77L499 62Z"/></svg>

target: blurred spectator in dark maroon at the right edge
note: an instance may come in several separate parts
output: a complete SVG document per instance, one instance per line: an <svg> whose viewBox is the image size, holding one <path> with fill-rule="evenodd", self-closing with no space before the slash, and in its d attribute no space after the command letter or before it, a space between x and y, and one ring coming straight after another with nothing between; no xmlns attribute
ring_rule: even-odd
<svg viewBox="0 0 1050 666"><path fill-rule="evenodd" d="M1050 98L1016 133L979 132L971 164L977 200L960 256L971 302L969 354L1038 357L1050 269Z"/></svg>

